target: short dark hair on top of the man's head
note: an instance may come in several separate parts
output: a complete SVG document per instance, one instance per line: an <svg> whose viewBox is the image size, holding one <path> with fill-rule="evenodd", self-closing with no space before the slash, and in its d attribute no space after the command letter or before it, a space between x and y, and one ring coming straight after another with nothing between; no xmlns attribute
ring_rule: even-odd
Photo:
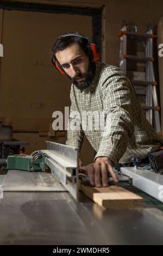
<svg viewBox="0 0 163 256"><path fill-rule="evenodd" d="M79 34L79 33L73 33L73 34ZM81 36L83 36L82 34L79 34ZM52 51L53 54L59 52L59 51L63 51L65 50L65 48L67 48L68 46L76 43L78 44L82 50L84 51L84 53L89 56L89 51L87 48L87 44L88 44L88 40L85 38L80 38L78 35L67 35L67 36L60 36L53 45Z"/></svg>

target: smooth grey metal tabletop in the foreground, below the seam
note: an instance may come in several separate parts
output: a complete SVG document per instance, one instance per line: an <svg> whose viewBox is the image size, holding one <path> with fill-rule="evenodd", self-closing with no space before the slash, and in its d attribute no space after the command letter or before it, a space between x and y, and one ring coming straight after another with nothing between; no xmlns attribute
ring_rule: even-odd
<svg viewBox="0 0 163 256"><path fill-rule="evenodd" d="M106 210L82 192L79 202L65 191L3 192L0 245L163 244L162 203L120 185L143 197L143 209Z"/></svg>

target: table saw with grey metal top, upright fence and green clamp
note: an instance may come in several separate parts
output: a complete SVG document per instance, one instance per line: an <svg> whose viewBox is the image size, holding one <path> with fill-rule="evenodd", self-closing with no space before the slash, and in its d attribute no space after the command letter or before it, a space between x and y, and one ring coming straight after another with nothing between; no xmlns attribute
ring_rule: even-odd
<svg viewBox="0 0 163 256"><path fill-rule="evenodd" d="M78 190L76 148L47 142L47 150L10 156L7 167L0 175L1 245L163 243L160 174L121 168L119 186L143 197L143 208L104 209Z"/></svg>

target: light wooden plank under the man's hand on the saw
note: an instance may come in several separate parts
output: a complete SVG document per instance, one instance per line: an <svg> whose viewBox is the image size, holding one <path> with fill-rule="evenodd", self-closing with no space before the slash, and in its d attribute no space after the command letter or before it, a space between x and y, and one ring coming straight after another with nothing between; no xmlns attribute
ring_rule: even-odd
<svg viewBox="0 0 163 256"><path fill-rule="evenodd" d="M142 197L120 186L98 188L79 182L79 189L95 203L107 209L134 209L143 206Z"/></svg>

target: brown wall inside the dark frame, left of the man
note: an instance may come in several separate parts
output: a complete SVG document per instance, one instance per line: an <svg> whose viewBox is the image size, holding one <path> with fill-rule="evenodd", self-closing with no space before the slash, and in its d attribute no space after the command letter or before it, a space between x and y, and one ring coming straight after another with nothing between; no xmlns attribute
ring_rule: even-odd
<svg viewBox="0 0 163 256"><path fill-rule="evenodd" d="M53 112L61 111L64 117L65 106L70 106L71 82L52 66L53 43L68 31L90 35L91 26L87 16L4 10L0 116L5 125L14 126L15 139L29 141L27 154L46 148ZM66 132L50 139L65 143ZM87 162L93 150L85 147L90 148L84 156Z"/></svg>

